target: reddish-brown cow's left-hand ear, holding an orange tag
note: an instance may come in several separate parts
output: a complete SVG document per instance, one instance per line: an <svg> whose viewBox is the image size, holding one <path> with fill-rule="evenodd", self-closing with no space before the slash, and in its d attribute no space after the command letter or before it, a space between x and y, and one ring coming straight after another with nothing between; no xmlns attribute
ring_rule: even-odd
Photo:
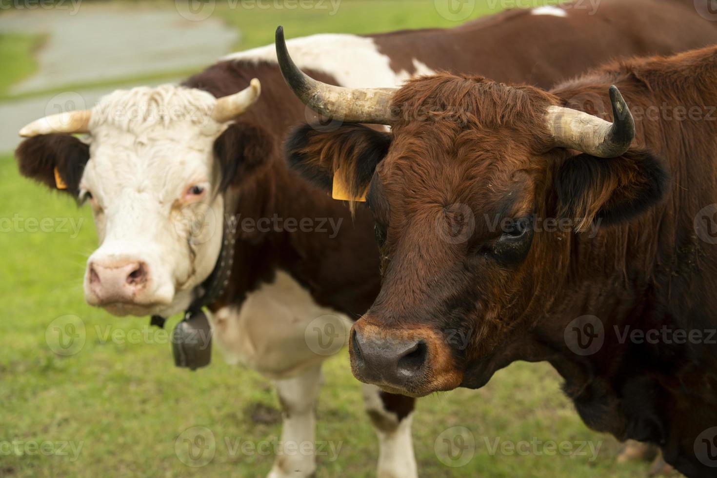
<svg viewBox="0 0 717 478"><path fill-rule="evenodd" d="M366 192L389 145L389 133L364 125L342 125L337 130L300 125L289 133L284 150L289 166L324 191L331 191L333 173L341 169L347 192L358 197Z"/></svg>

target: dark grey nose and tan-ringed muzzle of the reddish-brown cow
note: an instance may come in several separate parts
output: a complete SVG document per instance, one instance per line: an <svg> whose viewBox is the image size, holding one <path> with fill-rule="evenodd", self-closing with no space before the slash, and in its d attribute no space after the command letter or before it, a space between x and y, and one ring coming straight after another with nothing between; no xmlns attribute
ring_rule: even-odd
<svg viewBox="0 0 717 478"><path fill-rule="evenodd" d="M429 328L386 329L361 318L351 328L353 376L389 393L424 396L460 385L448 344Z"/></svg>

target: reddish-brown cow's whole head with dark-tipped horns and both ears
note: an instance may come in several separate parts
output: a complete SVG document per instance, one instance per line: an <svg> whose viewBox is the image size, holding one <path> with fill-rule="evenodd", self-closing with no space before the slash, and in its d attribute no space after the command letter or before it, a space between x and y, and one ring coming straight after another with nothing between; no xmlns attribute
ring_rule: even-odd
<svg viewBox="0 0 717 478"><path fill-rule="evenodd" d="M304 126L287 143L305 176L328 185L340 171L351 193L366 192L383 284L353 326L351 367L386 391L482 386L554 300L574 234L663 196L662 162L628 149L635 125L617 88L614 124L535 87L448 74L409 82L389 105L385 90L319 88L277 49L315 110L361 121L369 105L366 120L391 125Z"/></svg>

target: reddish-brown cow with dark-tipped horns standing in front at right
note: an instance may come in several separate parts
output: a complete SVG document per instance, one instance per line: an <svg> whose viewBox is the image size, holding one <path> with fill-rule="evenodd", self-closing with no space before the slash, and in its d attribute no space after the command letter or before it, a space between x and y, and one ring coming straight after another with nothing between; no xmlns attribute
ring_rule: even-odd
<svg viewBox="0 0 717 478"><path fill-rule="evenodd" d="M356 378L424 396L547 360L593 429L714 476L717 47L550 92L447 73L347 92L277 51L317 110L391 125L288 142L303 171L368 189L384 276L351 332ZM611 105L613 123L589 114Z"/></svg>

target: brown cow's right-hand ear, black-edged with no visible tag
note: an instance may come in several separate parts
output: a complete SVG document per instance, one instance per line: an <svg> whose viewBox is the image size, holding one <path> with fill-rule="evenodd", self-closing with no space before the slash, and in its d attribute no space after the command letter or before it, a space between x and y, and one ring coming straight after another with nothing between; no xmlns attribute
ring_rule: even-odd
<svg viewBox="0 0 717 478"><path fill-rule="evenodd" d="M587 231L593 221L619 224L655 206L668 190L668 168L645 150L618 158L581 154L567 158L556 173L559 215Z"/></svg>

